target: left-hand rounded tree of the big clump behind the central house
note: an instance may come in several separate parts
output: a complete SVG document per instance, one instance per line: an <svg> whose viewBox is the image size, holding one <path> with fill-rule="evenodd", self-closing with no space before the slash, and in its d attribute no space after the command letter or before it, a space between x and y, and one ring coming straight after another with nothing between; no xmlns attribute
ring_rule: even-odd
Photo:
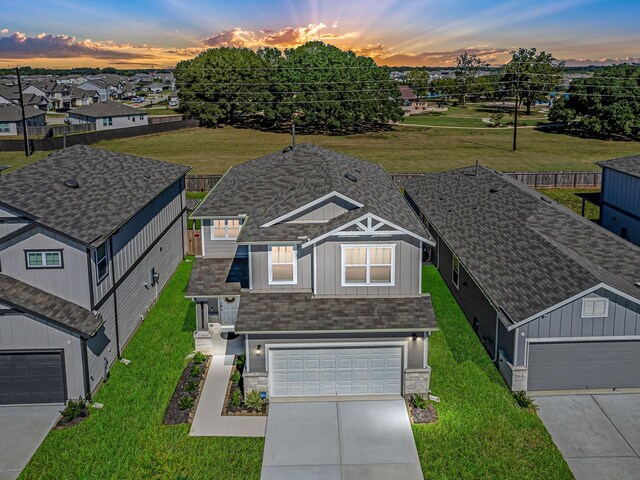
<svg viewBox="0 0 640 480"><path fill-rule="evenodd" d="M213 48L178 63L174 71L180 108L206 126L234 123L271 100L270 66L248 48Z"/></svg>

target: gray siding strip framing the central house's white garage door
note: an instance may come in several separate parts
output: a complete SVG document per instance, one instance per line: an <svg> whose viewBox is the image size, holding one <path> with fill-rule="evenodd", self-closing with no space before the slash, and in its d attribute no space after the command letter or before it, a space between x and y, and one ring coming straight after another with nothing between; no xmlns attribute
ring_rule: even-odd
<svg viewBox="0 0 640 480"><path fill-rule="evenodd" d="M406 333L335 333L335 334L291 334L291 335L249 335L249 368L252 372L264 372L265 367L265 345L287 344L287 343L344 343L344 342L407 342L408 365L404 368L424 367L424 342L422 333L416 332L419 339L411 341L411 337ZM427 340L428 341L428 337ZM262 346L262 354L256 355L256 347Z"/></svg>

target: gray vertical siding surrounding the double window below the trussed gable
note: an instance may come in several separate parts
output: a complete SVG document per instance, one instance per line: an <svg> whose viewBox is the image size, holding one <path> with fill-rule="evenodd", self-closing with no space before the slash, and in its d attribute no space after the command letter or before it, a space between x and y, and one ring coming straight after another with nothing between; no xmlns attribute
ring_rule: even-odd
<svg viewBox="0 0 640 480"><path fill-rule="evenodd" d="M395 284L390 287L343 287L342 245L395 245ZM420 241L407 235L385 237L330 237L316 245L316 295L419 295L422 251Z"/></svg>

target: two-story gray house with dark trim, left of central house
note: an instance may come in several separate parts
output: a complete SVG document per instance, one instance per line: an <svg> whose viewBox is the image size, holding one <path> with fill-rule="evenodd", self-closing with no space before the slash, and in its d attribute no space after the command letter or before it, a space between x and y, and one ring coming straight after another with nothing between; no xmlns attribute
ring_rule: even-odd
<svg viewBox="0 0 640 480"><path fill-rule="evenodd" d="M183 259L188 170L75 146L0 178L0 404L107 378Z"/></svg>

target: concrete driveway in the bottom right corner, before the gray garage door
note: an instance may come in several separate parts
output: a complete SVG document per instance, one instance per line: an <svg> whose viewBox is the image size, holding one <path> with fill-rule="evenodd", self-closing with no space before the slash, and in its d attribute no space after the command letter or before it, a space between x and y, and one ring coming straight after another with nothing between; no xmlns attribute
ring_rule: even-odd
<svg viewBox="0 0 640 480"><path fill-rule="evenodd" d="M535 399L577 480L640 478L640 394Z"/></svg>

